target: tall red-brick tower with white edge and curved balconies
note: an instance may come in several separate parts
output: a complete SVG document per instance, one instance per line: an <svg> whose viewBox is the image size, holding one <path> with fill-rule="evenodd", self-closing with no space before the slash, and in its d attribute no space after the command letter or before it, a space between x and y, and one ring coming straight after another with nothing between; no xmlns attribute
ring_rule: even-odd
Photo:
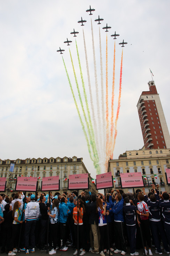
<svg viewBox="0 0 170 256"><path fill-rule="evenodd" d="M170 148L170 135L154 81L142 92L137 108L145 149Z"/></svg>

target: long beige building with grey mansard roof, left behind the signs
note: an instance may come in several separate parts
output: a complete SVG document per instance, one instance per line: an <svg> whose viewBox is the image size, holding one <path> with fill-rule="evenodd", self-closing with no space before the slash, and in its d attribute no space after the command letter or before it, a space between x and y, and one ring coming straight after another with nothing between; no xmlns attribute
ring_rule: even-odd
<svg viewBox="0 0 170 256"><path fill-rule="evenodd" d="M14 163L14 172L9 172L10 164ZM88 173L86 166L83 163L83 158L77 158L76 156L71 157L47 157L42 158L27 158L25 160L1 160L0 159L0 177L7 178L6 193L12 194L15 192L15 185L17 177L37 177L38 180L38 191L41 191L42 177L59 176L60 179L60 190L56 191L60 194L72 193L67 189L68 187L68 176L70 174L83 174ZM91 181L90 173L89 176L89 190L96 193L95 184ZM40 177L40 178L39 178ZM82 190L80 190L81 193ZM46 191L48 192L48 191ZM76 192L76 188L75 188ZM55 192L54 192L55 193Z"/></svg>

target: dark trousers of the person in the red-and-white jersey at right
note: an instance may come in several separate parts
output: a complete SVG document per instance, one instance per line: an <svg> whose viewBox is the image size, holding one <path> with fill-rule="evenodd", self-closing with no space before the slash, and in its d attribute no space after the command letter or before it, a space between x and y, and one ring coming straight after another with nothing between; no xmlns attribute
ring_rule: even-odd
<svg viewBox="0 0 170 256"><path fill-rule="evenodd" d="M151 248L151 235L150 235L149 219L148 220L140 220L140 223L141 223L144 246L146 247L146 242L147 242L148 247Z"/></svg>

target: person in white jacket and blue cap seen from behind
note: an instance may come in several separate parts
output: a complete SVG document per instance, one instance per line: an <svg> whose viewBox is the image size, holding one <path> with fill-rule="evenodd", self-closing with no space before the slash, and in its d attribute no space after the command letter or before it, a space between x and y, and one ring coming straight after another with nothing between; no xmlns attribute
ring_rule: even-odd
<svg viewBox="0 0 170 256"><path fill-rule="evenodd" d="M25 253L35 252L35 226L40 215L39 203L35 202L35 195L31 195L31 201L25 208ZM30 250L29 250L30 241Z"/></svg>

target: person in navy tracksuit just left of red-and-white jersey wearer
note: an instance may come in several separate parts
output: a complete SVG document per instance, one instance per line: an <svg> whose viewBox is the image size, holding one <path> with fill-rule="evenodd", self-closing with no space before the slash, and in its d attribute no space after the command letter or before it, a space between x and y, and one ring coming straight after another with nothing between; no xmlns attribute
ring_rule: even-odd
<svg viewBox="0 0 170 256"><path fill-rule="evenodd" d="M131 205L128 197L125 197L124 202L125 206L123 206L123 212L130 242L130 254L139 255L139 252L136 251L136 207Z"/></svg>

